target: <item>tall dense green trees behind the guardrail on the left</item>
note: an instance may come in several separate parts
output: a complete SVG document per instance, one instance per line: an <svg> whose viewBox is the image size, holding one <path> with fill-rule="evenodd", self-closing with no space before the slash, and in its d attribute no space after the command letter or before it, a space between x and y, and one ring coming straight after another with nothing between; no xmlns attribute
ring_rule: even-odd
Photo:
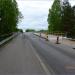
<svg viewBox="0 0 75 75"><path fill-rule="evenodd" d="M19 18L16 0L0 0L0 35L17 31Z"/></svg>

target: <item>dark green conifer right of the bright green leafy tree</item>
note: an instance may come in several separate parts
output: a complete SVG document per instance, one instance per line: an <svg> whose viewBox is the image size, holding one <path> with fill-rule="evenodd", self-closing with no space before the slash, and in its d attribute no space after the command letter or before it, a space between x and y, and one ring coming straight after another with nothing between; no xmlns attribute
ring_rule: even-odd
<svg viewBox="0 0 75 75"><path fill-rule="evenodd" d="M72 37L73 29L74 29L74 11L69 2L66 2L63 4L62 31L67 34L67 37Z"/></svg>

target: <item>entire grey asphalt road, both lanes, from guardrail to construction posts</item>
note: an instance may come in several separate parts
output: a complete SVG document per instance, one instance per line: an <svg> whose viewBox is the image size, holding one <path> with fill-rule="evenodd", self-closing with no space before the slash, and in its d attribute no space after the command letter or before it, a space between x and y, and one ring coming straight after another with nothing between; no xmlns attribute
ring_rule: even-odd
<svg viewBox="0 0 75 75"><path fill-rule="evenodd" d="M0 48L0 73L47 75L33 49L51 75L75 75L75 56L33 33L24 33Z"/></svg>

